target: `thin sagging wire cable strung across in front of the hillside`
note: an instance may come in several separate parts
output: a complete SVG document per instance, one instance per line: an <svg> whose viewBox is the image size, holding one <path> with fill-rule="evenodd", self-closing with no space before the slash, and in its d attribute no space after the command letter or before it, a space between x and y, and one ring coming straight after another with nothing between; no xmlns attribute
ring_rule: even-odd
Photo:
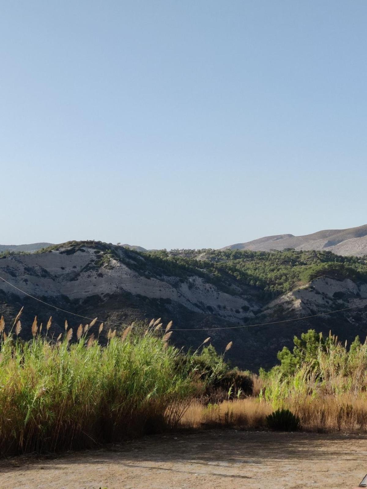
<svg viewBox="0 0 367 489"><path fill-rule="evenodd" d="M1 276L0 276L0 279L3 280L6 284L8 284L11 287L13 287L14 289L19 290L20 292L22 292L23 294L27 295L28 297L31 297L32 299L34 299L34 300L36 300L38 302L41 302L42 304L45 304L48 307L51 307L53 309L56 309L57 311L66 312L67 314L72 314L73 316L81 317L83 319L88 319L89 321L93 321L93 318L92 317L83 316L81 314L76 314L75 312L67 311L66 309L62 309L62 308L59 308L57 306L53 306L52 304L49 304L48 302L45 302L45 301L43 301L41 299L38 299L37 297L34 297L31 294L28 294L28 292L25 292L24 290L19 289L19 287L11 284L10 282L8 282L7 280L5 280ZM335 312L350 311L351 309L358 309L358 308L364 307L365 305L366 304L359 304L358 306L346 307L344 309L338 309L336 311L320 312L319 314L312 314L310 316L295 317L293 319L283 319L281 321L271 321L271 322L268 322L268 323L245 324L245 325L239 325L239 326L228 326L226 328L177 328L177 329L172 329L172 331L218 331L218 330L234 330L234 329L242 329L242 328L254 328L256 326L269 326L269 325L273 325L273 324L289 323L289 322L292 322L292 321L301 321L302 319L310 319L312 317L325 316L327 314L334 314ZM109 321L109 320L107 320L107 321L101 321L100 319L97 319L96 322L97 323L105 323L105 324L108 324L109 323L109 324L113 324L114 326L121 326L121 323L114 323L113 321ZM135 328L146 329L145 326L144 327L135 326Z"/></svg>

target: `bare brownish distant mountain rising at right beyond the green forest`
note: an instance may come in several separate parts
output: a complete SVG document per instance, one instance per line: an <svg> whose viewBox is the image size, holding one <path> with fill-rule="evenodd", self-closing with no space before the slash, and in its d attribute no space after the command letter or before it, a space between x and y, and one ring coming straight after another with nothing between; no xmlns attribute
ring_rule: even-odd
<svg viewBox="0 0 367 489"><path fill-rule="evenodd" d="M271 251L295 248L296 250L324 250L337 255L367 255L367 224L348 229L326 229L304 236L278 234L266 236L248 243L237 243L222 249L248 249L252 251Z"/></svg>

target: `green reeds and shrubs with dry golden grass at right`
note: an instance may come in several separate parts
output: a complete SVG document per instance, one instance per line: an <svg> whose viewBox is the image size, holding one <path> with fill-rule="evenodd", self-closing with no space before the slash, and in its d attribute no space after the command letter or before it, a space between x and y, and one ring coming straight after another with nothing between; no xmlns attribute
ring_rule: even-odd
<svg viewBox="0 0 367 489"><path fill-rule="evenodd" d="M288 410L303 429L367 431L367 341L362 343L357 336L348 345L331 333L323 337L309 330L296 336L294 343L292 352L288 348L279 352L279 365L252 375L252 396L218 402L210 410L194 403L183 424L215 425L226 419L232 426L259 428L267 425L274 410ZM268 419L286 429L282 420L287 417L274 414Z"/></svg>

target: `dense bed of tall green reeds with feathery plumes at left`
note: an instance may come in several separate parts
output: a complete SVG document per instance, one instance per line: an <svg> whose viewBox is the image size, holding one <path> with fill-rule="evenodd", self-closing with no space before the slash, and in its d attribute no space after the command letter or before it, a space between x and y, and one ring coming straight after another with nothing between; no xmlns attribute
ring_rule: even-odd
<svg viewBox="0 0 367 489"><path fill-rule="evenodd" d="M54 341L37 321L23 342L16 321L1 339L0 453L86 448L177 425L196 387L156 326L109 332L102 347L88 326L72 343L67 324Z"/></svg>

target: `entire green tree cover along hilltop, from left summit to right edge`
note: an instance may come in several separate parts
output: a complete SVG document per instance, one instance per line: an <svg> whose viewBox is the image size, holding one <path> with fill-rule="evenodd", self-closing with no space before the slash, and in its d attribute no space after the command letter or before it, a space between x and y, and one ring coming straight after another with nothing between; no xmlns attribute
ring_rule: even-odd
<svg viewBox="0 0 367 489"><path fill-rule="evenodd" d="M95 266L118 260L147 278L175 277L181 282L194 275L226 292L257 287L271 297L286 293L318 277L367 281L367 257L340 256L330 251L250 251L238 249L173 249L139 252L100 241L68 242L38 251L72 254L95 248Z"/></svg>

